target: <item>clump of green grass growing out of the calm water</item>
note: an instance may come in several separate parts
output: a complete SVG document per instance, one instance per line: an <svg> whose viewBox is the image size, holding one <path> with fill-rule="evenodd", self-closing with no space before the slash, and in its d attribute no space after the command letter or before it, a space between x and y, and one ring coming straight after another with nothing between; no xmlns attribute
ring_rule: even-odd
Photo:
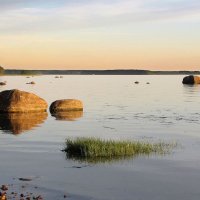
<svg viewBox="0 0 200 200"><path fill-rule="evenodd" d="M114 141L98 138L77 138L67 139L66 148L68 158L102 159L102 158L123 158L137 156L140 154L149 155L169 153L176 144L172 143L150 143L143 141Z"/></svg>

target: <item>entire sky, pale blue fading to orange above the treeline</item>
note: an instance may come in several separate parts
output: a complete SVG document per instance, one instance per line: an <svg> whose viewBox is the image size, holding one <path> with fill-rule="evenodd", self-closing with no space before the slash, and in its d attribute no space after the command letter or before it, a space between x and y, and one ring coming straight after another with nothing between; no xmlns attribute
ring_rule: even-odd
<svg viewBox="0 0 200 200"><path fill-rule="evenodd" d="M0 65L200 70L200 1L0 0Z"/></svg>

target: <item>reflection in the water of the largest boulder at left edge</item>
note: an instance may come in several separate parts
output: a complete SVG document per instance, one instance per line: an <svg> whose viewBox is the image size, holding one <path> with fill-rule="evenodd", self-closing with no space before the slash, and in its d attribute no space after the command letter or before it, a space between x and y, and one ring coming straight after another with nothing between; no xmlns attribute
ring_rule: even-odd
<svg viewBox="0 0 200 200"><path fill-rule="evenodd" d="M0 129L18 135L42 124L47 116L46 112L0 114Z"/></svg>

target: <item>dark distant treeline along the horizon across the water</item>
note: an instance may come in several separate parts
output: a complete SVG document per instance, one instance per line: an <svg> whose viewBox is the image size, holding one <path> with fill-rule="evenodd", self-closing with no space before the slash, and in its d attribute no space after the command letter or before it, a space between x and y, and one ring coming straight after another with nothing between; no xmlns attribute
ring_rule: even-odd
<svg viewBox="0 0 200 200"><path fill-rule="evenodd" d="M19 70L5 69L5 75L185 75L200 71L149 71L135 69L116 70Z"/></svg>

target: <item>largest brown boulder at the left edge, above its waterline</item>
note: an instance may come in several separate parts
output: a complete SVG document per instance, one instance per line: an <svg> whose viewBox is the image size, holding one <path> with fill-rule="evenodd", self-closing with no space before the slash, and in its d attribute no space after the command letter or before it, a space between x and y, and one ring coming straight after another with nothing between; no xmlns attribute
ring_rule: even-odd
<svg viewBox="0 0 200 200"><path fill-rule="evenodd" d="M46 112L47 103L44 99L29 92L5 90L0 92L0 112Z"/></svg>

